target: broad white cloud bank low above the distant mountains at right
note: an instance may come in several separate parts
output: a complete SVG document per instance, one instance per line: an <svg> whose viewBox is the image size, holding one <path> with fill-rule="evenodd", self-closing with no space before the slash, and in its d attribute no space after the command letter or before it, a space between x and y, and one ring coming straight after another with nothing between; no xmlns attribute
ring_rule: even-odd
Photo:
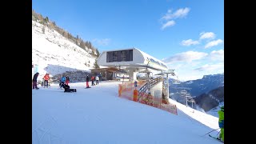
<svg viewBox="0 0 256 144"><path fill-rule="evenodd" d="M186 51L163 59L162 62L175 70L179 80L199 79L203 75L224 73L224 50L213 50L209 54Z"/></svg>

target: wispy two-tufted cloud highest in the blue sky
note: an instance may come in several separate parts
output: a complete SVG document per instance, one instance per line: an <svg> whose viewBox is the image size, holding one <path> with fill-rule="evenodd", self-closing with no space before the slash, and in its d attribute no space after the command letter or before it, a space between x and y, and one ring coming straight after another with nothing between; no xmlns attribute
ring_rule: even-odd
<svg viewBox="0 0 256 144"><path fill-rule="evenodd" d="M165 14L161 19L163 19L164 24L162 24L162 30L165 29L168 26L174 26L176 18L183 18L186 17L186 15L190 12L190 8L184 8L184 9L178 9L174 13L172 13L172 10L167 10L167 14Z"/></svg>

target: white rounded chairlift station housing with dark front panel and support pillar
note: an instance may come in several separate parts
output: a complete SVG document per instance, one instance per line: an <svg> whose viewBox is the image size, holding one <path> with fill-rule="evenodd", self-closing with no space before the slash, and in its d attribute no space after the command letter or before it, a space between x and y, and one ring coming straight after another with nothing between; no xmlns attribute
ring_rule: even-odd
<svg viewBox="0 0 256 144"><path fill-rule="evenodd" d="M103 51L98 58L98 66L115 67L126 70L131 82L143 70L166 71L166 64L137 48Z"/></svg>

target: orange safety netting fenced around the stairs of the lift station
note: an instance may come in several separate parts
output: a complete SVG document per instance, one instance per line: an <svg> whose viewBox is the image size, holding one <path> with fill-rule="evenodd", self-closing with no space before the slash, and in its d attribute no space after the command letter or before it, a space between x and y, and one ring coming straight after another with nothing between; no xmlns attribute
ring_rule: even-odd
<svg viewBox="0 0 256 144"><path fill-rule="evenodd" d="M118 84L118 97L126 98L131 101L140 102L149 106L154 106L161 110L166 110L171 114L177 115L177 107L171 103L163 103L162 97L154 97L154 95L139 93L138 90L145 85L146 82L138 82L137 87L134 87L134 82L126 82L124 84ZM138 94L138 95L137 95Z"/></svg>

